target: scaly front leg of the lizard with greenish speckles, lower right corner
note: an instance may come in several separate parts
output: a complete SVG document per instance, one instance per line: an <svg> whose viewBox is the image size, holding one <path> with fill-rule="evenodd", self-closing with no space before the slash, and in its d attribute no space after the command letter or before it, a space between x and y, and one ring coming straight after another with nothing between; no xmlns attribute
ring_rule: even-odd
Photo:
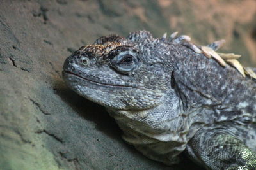
<svg viewBox="0 0 256 170"><path fill-rule="evenodd" d="M256 156L244 143L223 129L201 129L186 152L207 169L256 169Z"/></svg>

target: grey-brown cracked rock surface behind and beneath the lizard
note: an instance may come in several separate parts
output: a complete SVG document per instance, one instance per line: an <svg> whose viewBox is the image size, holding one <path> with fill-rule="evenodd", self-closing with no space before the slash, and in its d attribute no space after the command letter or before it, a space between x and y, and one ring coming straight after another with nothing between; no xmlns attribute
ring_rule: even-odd
<svg viewBox="0 0 256 170"><path fill-rule="evenodd" d="M0 169L193 169L164 166L122 141L101 106L68 89L65 58L107 34L179 31L256 65L256 1L1 1Z"/></svg>

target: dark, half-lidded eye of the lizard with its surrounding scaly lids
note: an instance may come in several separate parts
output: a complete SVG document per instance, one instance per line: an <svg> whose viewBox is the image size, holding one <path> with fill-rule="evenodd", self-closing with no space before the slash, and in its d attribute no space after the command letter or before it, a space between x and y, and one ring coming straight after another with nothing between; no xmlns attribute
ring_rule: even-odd
<svg viewBox="0 0 256 170"><path fill-rule="evenodd" d="M120 73L129 73L138 66L137 54L131 51L120 52L111 60L111 66Z"/></svg>

